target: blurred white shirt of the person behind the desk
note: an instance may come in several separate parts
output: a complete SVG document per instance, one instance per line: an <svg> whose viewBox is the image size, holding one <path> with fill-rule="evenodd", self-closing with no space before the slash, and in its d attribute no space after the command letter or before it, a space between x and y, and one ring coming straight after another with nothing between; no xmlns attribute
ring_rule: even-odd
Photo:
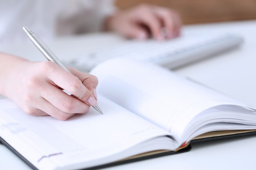
<svg viewBox="0 0 256 170"><path fill-rule="evenodd" d="M100 31L114 0L0 0L0 46L27 39L28 26L39 37Z"/></svg>

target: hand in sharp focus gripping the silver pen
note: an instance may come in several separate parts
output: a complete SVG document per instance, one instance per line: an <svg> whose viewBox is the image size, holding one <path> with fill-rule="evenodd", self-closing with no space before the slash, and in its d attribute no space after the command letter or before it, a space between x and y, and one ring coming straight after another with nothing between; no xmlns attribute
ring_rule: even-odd
<svg viewBox="0 0 256 170"><path fill-rule="evenodd" d="M74 68L69 69L72 74L54 62L22 60L9 72L3 95L29 115L51 115L66 120L76 113L86 113L90 106L97 105L95 89L98 79Z"/></svg>

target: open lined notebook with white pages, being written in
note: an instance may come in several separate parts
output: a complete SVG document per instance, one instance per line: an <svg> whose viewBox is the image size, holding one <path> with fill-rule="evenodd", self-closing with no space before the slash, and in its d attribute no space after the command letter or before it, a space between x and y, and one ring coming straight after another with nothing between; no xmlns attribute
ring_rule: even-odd
<svg viewBox="0 0 256 170"><path fill-rule="evenodd" d="M35 169L66 170L177 152L193 139L256 130L255 108L166 68L113 59L91 73L99 79L103 115L90 109L67 121L33 117L3 99L0 139Z"/></svg>

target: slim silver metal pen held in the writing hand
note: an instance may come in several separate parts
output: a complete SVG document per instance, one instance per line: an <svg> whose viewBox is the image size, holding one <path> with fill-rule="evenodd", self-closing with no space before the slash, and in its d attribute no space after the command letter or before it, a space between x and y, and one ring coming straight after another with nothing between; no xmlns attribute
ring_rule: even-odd
<svg viewBox="0 0 256 170"><path fill-rule="evenodd" d="M56 64L58 64L59 66L61 66L65 71L70 72L67 67L56 57L56 55L45 45L45 43L43 43L42 40L40 40L40 38L38 38L38 36L30 31L27 26L23 26L22 28L25 33L27 33L27 36L29 37L29 39L36 45L36 47L43 53L43 55L45 56L45 58L47 58L47 60L55 62ZM71 73L71 72L70 72ZM67 93L66 91L64 91L65 93ZM70 95L70 93L67 93L68 95ZM103 112L101 111L101 108L99 108L98 105L96 106L92 106L95 110L97 110L99 113L103 114Z"/></svg>

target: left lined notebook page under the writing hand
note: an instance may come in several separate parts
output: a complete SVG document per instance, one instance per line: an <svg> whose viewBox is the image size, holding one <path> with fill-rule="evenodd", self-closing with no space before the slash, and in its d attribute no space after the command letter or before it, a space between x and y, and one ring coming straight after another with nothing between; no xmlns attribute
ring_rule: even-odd
<svg viewBox="0 0 256 170"><path fill-rule="evenodd" d="M33 117L11 101L0 100L0 136L18 152L31 150L21 153L39 169L52 169L108 157L154 137L170 135L101 95L98 99L103 115L92 108L67 121Z"/></svg>

